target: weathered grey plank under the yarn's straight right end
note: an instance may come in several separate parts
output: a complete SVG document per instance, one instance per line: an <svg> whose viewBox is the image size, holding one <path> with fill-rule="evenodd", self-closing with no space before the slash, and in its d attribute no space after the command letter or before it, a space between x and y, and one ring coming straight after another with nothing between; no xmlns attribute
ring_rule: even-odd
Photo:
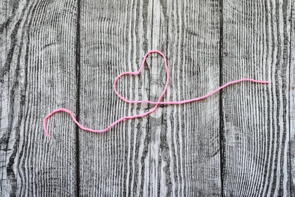
<svg viewBox="0 0 295 197"><path fill-rule="evenodd" d="M225 196L290 196L291 0L223 1Z"/></svg>

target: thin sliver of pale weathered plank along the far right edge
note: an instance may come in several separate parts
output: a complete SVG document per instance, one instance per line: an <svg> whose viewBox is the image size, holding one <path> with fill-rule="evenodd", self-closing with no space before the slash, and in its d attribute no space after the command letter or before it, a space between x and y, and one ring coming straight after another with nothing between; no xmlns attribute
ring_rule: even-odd
<svg viewBox="0 0 295 197"><path fill-rule="evenodd" d="M290 168L291 196L295 195L295 0L292 2L290 84L289 84L289 120L290 120Z"/></svg>

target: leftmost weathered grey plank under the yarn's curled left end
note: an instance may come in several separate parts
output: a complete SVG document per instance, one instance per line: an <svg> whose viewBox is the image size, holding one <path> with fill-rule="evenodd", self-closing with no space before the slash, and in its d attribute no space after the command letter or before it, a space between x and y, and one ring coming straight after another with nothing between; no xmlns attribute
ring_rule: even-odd
<svg viewBox="0 0 295 197"><path fill-rule="evenodd" d="M76 10L73 0L1 1L0 196L73 196Z"/></svg>

